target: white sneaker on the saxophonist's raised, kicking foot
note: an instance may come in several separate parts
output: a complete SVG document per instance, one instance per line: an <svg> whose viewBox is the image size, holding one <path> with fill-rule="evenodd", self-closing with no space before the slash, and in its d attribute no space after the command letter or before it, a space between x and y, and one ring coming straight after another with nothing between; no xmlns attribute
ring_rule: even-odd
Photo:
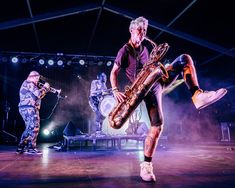
<svg viewBox="0 0 235 188"><path fill-rule="evenodd" d="M224 88L218 89L217 91L202 91L201 89L199 89L192 96L192 101L195 107L200 110L218 101L226 93L227 90Z"/></svg>

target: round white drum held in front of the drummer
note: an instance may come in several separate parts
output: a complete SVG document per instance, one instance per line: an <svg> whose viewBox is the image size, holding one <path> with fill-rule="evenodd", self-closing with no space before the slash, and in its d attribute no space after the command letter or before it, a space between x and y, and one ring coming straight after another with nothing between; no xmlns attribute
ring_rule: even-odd
<svg viewBox="0 0 235 188"><path fill-rule="evenodd" d="M116 103L117 102L112 95L104 96L99 104L99 110L102 116L107 117Z"/></svg>

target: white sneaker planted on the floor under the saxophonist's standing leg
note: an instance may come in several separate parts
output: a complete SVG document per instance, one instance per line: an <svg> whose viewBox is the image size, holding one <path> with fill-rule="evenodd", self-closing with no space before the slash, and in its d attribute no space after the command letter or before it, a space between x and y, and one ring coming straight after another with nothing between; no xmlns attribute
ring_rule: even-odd
<svg viewBox="0 0 235 188"><path fill-rule="evenodd" d="M153 174L152 162L142 162L140 164L140 177L144 181L156 181L156 177Z"/></svg>

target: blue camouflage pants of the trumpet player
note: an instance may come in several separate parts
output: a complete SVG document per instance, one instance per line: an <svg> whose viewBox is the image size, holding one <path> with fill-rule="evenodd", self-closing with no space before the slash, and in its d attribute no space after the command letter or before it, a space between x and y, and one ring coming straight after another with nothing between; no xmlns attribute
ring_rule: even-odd
<svg viewBox="0 0 235 188"><path fill-rule="evenodd" d="M35 108L20 108L19 112L25 122L25 130L19 145L35 148L40 128L39 110Z"/></svg>

